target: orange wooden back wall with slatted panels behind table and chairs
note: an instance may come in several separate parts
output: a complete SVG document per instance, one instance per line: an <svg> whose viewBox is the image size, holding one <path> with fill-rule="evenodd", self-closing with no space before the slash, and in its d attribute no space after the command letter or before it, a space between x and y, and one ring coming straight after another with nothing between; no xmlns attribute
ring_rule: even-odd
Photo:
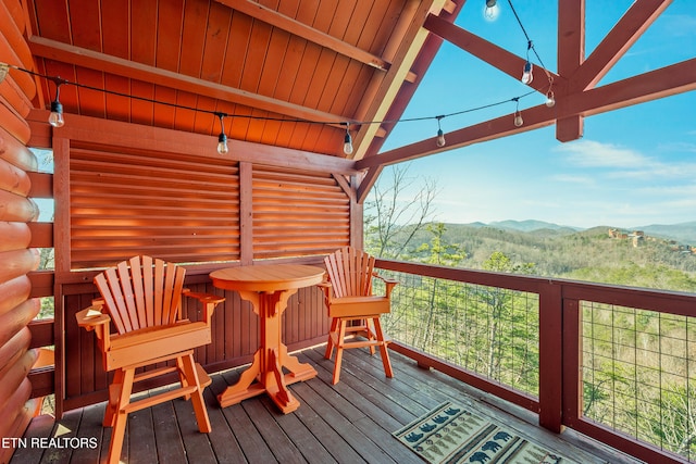
<svg viewBox="0 0 696 464"><path fill-rule="evenodd" d="M45 130L45 113L30 116L37 133ZM98 296L91 281L99 268L146 253L186 265L191 290L220 294L208 278L214 268L321 265L326 253L355 239L351 214L360 210L348 180L352 162L248 142L233 142L223 156L209 136L72 114L65 120L51 137L58 415L107 398L94 334L74 317ZM196 354L209 372L250 362L258 347L251 306L236 292L225 297L213 342ZM197 308L183 310L197 318ZM290 349L324 341L321 291L301 289L290 299L284 330Z"/></svg>

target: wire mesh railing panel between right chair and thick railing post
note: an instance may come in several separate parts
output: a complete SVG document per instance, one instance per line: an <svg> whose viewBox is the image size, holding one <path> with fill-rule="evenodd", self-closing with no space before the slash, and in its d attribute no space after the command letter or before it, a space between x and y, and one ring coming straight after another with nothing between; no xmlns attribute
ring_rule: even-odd
<svg viewBox="0 0 696 464"><path fill-rule="evenodd" d="M388 335L431 355L538 398L538 296L380 271L399 285ZM383 291L375 281L375 292Z"/></svg>

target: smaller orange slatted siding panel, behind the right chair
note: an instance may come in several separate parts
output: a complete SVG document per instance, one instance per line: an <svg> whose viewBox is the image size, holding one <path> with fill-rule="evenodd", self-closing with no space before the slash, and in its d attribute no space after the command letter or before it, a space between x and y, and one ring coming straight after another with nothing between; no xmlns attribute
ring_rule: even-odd
<svg viewBox="0 0 696 464"><path fill-rule="evenodd" d="M254 259L326 254L349 238L350 199L331 174L254 166Z"/></svg>

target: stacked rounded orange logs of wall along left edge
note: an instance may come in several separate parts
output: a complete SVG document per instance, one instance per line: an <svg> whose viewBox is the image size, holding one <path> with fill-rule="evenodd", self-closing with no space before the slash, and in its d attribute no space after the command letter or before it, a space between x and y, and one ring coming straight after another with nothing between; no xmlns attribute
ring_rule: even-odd
<svg viewBox="0 0 696 464"><path fill-rule="evenodd" d="M33 68L18 1L0 2L0 61ZM38 217L29 198L37 160L26 148L26 116L36 96L34 79L10 71L0 83L0 437L22 436L35 410L28 375L37 359L29 324L39 312L29 274L39 256L28 223ZM0 462L12 449L0 449Z"/></svg>

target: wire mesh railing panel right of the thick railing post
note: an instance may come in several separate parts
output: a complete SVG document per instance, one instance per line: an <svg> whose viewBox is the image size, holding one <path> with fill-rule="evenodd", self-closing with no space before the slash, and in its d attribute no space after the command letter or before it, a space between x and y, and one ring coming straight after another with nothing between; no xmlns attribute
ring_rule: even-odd
<svg viewBox="0 0 696 464"><path fill-rule="evenodd" d="M583 415L696 460L696 317L584 301Z"/></svg>

